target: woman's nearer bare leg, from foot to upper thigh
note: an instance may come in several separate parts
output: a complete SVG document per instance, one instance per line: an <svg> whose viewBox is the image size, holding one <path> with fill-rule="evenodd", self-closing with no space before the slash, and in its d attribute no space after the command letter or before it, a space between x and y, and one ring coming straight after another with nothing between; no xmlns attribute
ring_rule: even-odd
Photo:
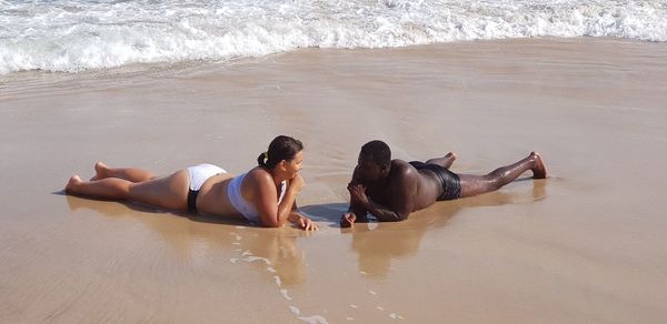
<svg viewBox="0 0 667 324"><path fill-rule="evenodd" d="M72 176L64 191L72 194L113 200L131 200L170 210L187 210L190 180L186 170L169 176L143 182L131 182L119 178L82 181Z"/></svg>

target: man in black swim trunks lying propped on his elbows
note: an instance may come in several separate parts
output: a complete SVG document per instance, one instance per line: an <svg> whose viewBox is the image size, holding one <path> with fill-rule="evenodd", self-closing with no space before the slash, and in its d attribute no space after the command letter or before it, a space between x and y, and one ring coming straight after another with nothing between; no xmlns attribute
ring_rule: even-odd
<svg viewBox="0 0 667 324"><path fill-rule="evenodd" d="M436 201L498 190L528 170L534 179L547 178L545 163L536 152L486 175L456 174L448 170L454 160L456 155L450 152L444 158L408 163L391 160L391 150L382 141L364 144L348 184L350 207L340 217L340 226L349 227L357 219L365 220L368 213L380 222L402 221Z"/></svg>

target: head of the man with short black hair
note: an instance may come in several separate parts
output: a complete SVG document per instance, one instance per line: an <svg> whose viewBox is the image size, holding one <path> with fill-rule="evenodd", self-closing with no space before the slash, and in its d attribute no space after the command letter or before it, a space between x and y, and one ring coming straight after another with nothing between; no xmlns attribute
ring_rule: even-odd
<svg viewBox="0 0 667 324"><path fill-rule="evenodd" d="M391 166L391 150L382 141L370 141L361 146L357 172L365 183L375 182L389 174Z"/></svg>

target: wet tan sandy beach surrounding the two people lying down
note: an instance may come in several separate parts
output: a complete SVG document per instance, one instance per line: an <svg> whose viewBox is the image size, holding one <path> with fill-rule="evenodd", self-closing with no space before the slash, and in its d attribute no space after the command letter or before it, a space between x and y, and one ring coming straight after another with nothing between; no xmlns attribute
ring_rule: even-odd
<svg viewBox="0 0 667 324"><path fill-rule="evenodd" d="M666 323L665 58L525 39L0 77L0 323ZM239 174L278 134L316 233L62 194L96 161ZM550 176L341 230L374 139L474 174L536 150Z"/></svg>

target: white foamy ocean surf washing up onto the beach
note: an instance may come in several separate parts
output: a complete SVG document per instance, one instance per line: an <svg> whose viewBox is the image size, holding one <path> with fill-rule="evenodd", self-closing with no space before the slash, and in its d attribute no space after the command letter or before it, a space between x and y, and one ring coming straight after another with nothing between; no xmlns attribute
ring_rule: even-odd
<svg viewBox="0 0 667 324"><path fill-rule="evenodd" d="M0 0L0 74L581 36L667 41L667 1Z"/></svg>

